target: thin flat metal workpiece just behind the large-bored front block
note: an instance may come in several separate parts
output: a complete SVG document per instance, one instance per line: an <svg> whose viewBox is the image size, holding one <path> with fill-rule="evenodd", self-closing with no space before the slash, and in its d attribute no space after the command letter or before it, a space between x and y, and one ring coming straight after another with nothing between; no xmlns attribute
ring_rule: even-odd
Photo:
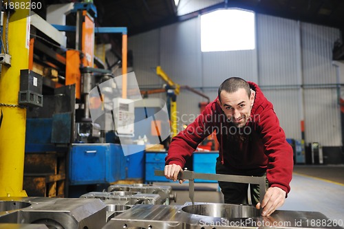
<svg viewBox="0 0 344 229"><path fill-rule="evenodd" d="M81 195L80 198L96 198L101 200L114 201L126 201L127 205L135 204L160 204L161 197L158 194L150 193L136 193L127 191L115 191L111 193L107 192L91 192Z"/></svg>

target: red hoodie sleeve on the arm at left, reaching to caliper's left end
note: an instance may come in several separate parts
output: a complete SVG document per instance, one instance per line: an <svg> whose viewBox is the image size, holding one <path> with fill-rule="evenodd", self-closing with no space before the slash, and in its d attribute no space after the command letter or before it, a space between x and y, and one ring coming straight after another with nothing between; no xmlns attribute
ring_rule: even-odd
<svg viewBox="0 0 344 229"><path fill-rule="evenodd" d="M178 164L184 168L185 160L197 149L198 144L208 135L213 133L211 123L213 118L214 102L206 106L206 109L197 116L194 122L188 125L184 131L176 135L169 146L165 164Z"/></svg>

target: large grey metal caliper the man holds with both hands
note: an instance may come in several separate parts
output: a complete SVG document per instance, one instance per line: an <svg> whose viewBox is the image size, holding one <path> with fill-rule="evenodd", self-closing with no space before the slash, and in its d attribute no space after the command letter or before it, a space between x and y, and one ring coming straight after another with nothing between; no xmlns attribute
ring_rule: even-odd
<svg viewBox="0 0 344 229"><path fill-rule="evenodd" d="M154 171L157 176L164 176L164 171ZM182 171L178 175L178 179L189 179L189 197L193 202L195 192L195 179L217 180L219 182L235 182L242 184L258 184L259 185L259 201L262 202L266 193L265 177L250 177L241 175L225 175L213 173L194 173L193 171Z"/></svg>

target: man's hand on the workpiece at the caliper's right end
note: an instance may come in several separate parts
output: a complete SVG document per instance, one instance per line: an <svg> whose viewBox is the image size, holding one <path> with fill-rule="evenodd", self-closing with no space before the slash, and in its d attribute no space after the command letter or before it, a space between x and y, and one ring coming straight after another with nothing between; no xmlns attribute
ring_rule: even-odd
<svg viewBox="0 0 344 229"><path fill-rule="evenodd" d="M262 216L270 216L277 208L284 204L286 192L278 187L270 187L266 191L263 202L256 205L257 209L263 208Z"/></svg>

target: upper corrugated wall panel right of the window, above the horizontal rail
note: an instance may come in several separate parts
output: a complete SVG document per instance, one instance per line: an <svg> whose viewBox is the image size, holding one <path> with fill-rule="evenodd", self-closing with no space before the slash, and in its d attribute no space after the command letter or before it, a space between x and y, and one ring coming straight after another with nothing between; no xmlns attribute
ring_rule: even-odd
<svg viewBox="0 0 344 229"><path fill-rule="evenodd" d="M257 14L259 85L297 84L297 21Z"/></svg>

